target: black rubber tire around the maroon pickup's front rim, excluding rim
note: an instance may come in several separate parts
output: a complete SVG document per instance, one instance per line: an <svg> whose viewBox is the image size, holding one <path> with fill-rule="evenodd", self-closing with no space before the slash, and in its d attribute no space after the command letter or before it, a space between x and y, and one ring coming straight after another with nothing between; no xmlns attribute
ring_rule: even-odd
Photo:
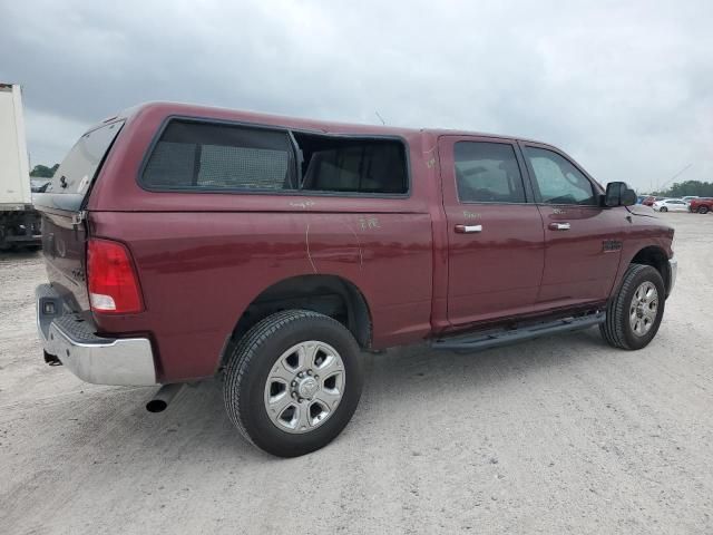
<svg viewBox="0 0 713 535"><path fill-rule="evenodd" d="M632 329L629 313L636 289L644 282L651 282L656 286L658 294L658 309L651 329L643 335L638 335ZM621 349L642 349L654 339L661 320L664 315L666 303L665 286L661 273L651 265L631 264L624 274L624 280L618 291L609 300L606 310L606 321L599 324L599 332L609 346Z"/></svg>

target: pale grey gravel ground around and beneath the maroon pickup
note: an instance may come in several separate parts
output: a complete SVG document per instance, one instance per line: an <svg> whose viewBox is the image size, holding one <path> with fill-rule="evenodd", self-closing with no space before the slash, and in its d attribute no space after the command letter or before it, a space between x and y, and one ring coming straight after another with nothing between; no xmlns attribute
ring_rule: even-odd
<svg viewBox="0 0 713 535"><path fill-rule="evenodd" d="M480 354L367 356L329 447L243 442L217 382L145 388L47 367L39 254L0 256L0 532L713 533L713 216L664 214L681 272L652 344L596 329Z"/></svg>

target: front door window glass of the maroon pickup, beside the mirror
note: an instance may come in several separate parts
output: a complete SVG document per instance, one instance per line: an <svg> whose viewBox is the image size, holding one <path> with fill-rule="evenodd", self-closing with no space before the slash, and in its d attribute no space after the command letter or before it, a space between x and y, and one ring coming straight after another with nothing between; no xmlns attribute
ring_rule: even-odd
<svg viewBox="0 0 713 535"><path fill-rule="evenodd" d="M537 147L525 147L525 156L535 173L541 203L596 206L592 183L568 159Z"/></svg>

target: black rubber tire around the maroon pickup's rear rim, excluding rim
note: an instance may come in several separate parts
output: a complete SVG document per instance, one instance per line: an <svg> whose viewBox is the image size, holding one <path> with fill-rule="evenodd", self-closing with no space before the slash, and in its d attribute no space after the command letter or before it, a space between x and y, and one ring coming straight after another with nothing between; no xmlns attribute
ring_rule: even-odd
<svg viewBox="0 0 713 535"><path fill-rule="evenodd" d="M344 364L344 391L339 406L313 430L286 432L265 408L265 385L281 354L293 346L318 340L334 348ZM336 320L309 310L286 310L265 318L238 342L225 369L224 400L231 421L250 442L277 457L297 457L326 446L351 419L363 386L360 349Z"/></svg>

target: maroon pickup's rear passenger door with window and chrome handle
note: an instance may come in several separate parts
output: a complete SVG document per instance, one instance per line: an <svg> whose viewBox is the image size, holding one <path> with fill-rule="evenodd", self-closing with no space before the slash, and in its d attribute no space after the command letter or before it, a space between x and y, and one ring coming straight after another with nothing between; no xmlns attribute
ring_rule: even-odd
<svg viewBox="0 0 713 535"><path fill-rule="evenodd" d="M533 310L544 268L543 222L508 139L442 136L448 319L453 325Z"/></svg>

